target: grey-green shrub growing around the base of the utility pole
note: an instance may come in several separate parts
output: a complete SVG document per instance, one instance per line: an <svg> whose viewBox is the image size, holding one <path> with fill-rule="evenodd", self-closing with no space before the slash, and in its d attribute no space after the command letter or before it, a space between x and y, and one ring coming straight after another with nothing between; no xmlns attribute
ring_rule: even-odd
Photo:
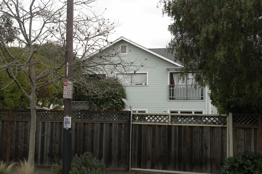
<svg viewBox="0 0 262 174"><path fill-rule="evenodd" d="M53 164L51 170L55 174L62 174L62 160L61 166ZM92 153L85 152L83 155L74 156L72 161L71 170L69 174L105 174L105 164L103 160L98 160L93 157Z"/></svg>

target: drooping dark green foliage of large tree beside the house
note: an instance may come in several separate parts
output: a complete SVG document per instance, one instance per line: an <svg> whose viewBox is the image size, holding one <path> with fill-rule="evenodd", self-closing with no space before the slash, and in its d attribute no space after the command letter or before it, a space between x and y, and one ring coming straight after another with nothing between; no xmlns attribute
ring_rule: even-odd
<svg viewBox="0 0 262 174"><path fill-rule="evenodd" d="M168 50L207 85L222 113L262 111L262 5L256 0L162 0Z"/></svg>

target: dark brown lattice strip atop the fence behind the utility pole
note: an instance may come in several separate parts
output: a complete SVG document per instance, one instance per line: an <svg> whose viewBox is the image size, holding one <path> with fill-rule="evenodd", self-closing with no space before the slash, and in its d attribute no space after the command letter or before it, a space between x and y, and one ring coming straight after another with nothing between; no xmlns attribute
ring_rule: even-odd
<svg viewBox="0 0 262 174"><path fill-rule="evenodd" d="M0 118L8 119L9 111L0 111ZM12 119L30 120L27 110L12 111ZM64 111L36 111L37 120L63 120ZM113 111L73 111L72 120L85 121L128 121L128 112Z"/></svg>

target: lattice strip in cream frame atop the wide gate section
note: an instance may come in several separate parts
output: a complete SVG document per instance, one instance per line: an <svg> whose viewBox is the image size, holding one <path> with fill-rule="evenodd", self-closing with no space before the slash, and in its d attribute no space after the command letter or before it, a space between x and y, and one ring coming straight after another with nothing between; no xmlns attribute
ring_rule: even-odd
<svg viewBox="0 0 262 174"><path fill-rule="evenodd" d="M227 124L226 116L186 115L186 114L132 114L132 122L143 123L170 123L171 124Z"/></svg>

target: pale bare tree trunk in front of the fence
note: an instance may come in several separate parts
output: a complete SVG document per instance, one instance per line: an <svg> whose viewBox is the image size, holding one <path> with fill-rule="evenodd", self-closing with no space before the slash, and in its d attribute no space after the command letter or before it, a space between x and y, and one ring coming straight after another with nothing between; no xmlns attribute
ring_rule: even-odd
<svg viewBox="0 0 262 174"><path fill-rule="evenodd" d="M34 95L34 96L32 96ZM35 106L35 94L31 93L30 108L31 108L31 126L29 136L29 152L28 161L29 164L34 166L35 164L35 132L36 132L36 106Z"/></svg>

